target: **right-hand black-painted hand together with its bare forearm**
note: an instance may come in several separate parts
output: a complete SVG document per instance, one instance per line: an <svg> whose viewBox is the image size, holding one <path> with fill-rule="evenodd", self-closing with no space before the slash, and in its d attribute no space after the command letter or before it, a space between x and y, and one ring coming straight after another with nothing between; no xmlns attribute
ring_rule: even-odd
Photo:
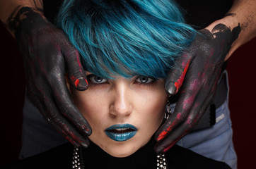
<svg viewBox="0 0 256 169"><path fill-rule="evenodd" d="M170 71L165 88L180 92L173 115L156 133L157 153L168 151L197 125L214 99L223 62L256 36L256 1L240 0L226 16L211 23L179 57L180 70ZM243 59L243 58L242 58Z"/></svg>

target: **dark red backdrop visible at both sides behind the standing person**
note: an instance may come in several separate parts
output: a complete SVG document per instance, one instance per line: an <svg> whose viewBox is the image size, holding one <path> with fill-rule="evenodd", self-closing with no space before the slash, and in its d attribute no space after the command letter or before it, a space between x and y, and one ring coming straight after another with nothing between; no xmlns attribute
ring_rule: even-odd
<svg viewBox="0 0 256 169"><path fill-rule="evenodd" d="M23 61L16 42L0 23L1 161L0 168L18 158L21 149L22 107L25 92ZM229 106L238 168L256 168L256 38L240 47L228 61Z"/></svg>

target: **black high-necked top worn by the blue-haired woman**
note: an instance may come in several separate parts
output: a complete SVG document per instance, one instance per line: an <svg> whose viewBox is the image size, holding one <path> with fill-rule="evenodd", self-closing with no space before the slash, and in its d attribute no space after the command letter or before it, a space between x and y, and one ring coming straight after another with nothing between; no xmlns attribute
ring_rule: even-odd
<svg viewBox="0 0 256 169"><path fill-rule="evenodd" d="M105 153L100 147L91 143L88 149L83 149L83 162L86 168L112 168L112 169L155 169L156 153L153 151L155 142L153 139L136 153L126 158L115 158ZM21 161L10 163L5 169L20 168L72 168L72 155L74 146L70 143L57 146L42 154L25 158ZM199 154L182 148L173 146L166 154L165 158L169 169L225 169L230 168L226 163L214 161Z"/></svg>

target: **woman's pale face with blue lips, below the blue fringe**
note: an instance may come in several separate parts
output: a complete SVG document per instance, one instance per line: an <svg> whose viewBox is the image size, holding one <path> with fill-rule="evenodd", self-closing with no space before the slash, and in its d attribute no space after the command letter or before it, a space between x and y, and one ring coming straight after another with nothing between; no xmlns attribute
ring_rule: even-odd
<svg viewBox="0 0 256 169"><path fill-rule="evenodd" d="M89 139L111 156L134 154L161 125L168 99L164 80L86 75L89 88L71 89L71 95L92 127Z"/></svg>

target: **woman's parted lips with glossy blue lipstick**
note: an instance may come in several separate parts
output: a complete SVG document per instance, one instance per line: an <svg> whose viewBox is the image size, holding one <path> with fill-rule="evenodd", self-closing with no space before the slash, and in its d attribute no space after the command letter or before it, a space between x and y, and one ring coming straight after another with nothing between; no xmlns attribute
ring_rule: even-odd
<svg viewBox="0 0 256 169"><path fill-rule="evenodd" d="M117 142L124 142L127 139L131 139L137 132L137 128L134 125L112 125L105 130L107 137Z"/></svg>

